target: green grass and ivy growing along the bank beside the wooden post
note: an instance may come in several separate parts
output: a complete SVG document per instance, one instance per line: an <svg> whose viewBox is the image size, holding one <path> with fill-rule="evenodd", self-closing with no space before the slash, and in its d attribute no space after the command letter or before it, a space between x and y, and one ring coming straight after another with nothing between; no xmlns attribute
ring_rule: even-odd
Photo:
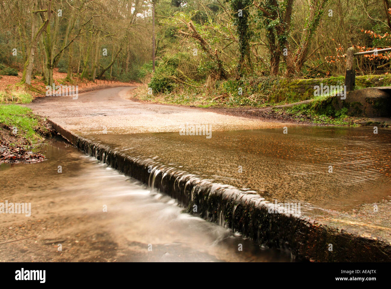
<svg viewBox="0 0 391 289"><path fill-rule="evenodd" d="M177 77L181 77L177 75ZM164 78L167 80L166 78ZM154 81L158 81L158 77ZM160 81L160 80L159 80ZM168 80L167 80L168 81ZM170 79L170 89L153 89L147 94L147 84L138 89L135 97L158 103L195 105L197 107L267 107L313 99L311 104L287 109L292 113L312 116L314 121L326 120L330 124L348 124L343 112L337 113L330 105L330 96L341 93L344 76L328 78L288 79L282 77L244 77L239 80L196 80L191 85L176 83ZM183 79L183 81L188 81ZM149 83L151 84L151 83ZM164 87L163 82L156 84ZM314 96L316 86L337 86L327 95ZM196 86L196 87L194 87ZM391 86L391 75L366 75L356 77L356 89L364 87ZM161 91L156 93L155 91ZM348 119L348 117L346 116Z"/></svg>

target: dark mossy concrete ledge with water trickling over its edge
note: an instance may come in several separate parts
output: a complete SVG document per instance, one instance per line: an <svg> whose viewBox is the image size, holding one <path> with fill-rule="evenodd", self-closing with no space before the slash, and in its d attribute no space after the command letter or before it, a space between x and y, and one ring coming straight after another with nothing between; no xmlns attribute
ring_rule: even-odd
<svg viewBox="0 0 391 289"><path fill-rule="evenodd" d="M53 127L80 150L175 198L188 213L232 228L258 244L290 250L299 260L391 262L391 244L386 241L341 232L287 211L269 213L274 204L255 191L216 184L152 159L126 155L120 148L77 136L56 123Z"/></svg>

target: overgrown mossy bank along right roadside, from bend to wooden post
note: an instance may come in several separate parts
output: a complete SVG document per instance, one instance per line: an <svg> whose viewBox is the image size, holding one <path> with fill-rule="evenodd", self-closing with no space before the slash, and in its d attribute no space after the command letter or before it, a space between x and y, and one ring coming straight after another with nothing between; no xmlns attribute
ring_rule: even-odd
<svg viewBox="0 0 391 289"><path fill-rule="evenodd" d="M157 84L161 79L164 80L164 86ZM151 80L135 89L131 98L153 103L230 109L234 114L236 109L239 110L239 114L247 114L248 116L252 114L253 117L265 120L274 119L323 125L356 125L359 116L352 115L348 108L334 105L331 94L314 96L314 87L321 84L343 87L344 77L310 79L248 77L240 80L178 84L172 78L164 78L156 73ZM390 85L391 75L356 77L356 89ZM276 107L306 100L313 101L290 107ZM247 108L250 111L247 111ZM255 113L251 109L264 110ZM366 122L371 121L366 120Z"/></svg>

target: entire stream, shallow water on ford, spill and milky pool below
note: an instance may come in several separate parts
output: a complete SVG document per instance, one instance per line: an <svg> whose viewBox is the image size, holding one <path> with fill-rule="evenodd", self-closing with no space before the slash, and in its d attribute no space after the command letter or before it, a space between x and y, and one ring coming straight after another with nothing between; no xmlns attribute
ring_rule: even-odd
<svg viewBox="0 0 391 289"><path fill-rule="evenodd" d="M389 240L388 128L85 137L78 147L87 155L56 142L45 147L44 162L0 166L0 201L32 203L29 218L1 216L3 242L29 239L0 244L0 260L291 261L287 251L237 233L262 244L305 247L305 223L296 232L292 216L256 211L273 200L300 202L301 214L323 225ZM194 204L214 223L184 213Z"/></svg>

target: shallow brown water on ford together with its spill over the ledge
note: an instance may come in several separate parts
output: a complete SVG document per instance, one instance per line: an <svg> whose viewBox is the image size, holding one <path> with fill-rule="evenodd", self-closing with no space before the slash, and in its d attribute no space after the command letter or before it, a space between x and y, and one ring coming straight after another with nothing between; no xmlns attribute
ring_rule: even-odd
<svg viewBox="0 0 391 289"><path fill-rule="evenodd" d="M297 232L283 230L285 235L280 237L278 227L288 223L271 220L270 214L261 218L258 213L248 214L251 207L290 203L295 208L300 205L298 216L307 220L388 244L391 130L373 132L372 127L298 126L289 127L287 134L282 128L217 131L209 139L179 133L101 134L85 136L81 148L105 151L110 164L125 171L124 162L116 163L116 159L133 158L131 162L138 163L135 171L152 168L153 178L158 179L152 183L155 187L182 205L199 206L203 218L261 243L285 246L297 239L291 235ZM160 169L169 177L159 175ZM143 174L136 175L146 182ZM210 182L200 181L205 179ZM161 186L163 180L165 186ZM275 222L276 227L253 227L257 222Z"/></svg>

